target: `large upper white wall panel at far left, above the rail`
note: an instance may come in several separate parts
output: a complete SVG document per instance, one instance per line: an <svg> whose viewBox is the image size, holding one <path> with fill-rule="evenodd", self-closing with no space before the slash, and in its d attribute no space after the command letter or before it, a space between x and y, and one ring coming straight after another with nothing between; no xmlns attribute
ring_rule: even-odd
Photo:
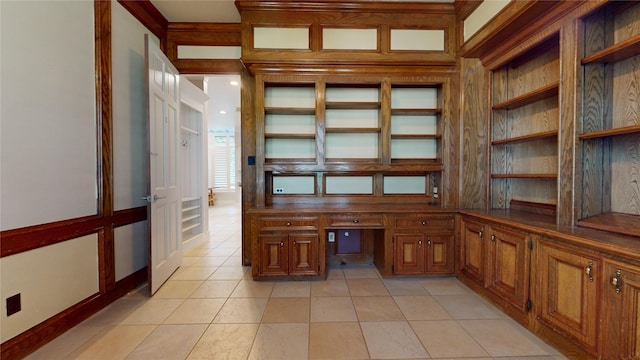
<svg viewBox="0 0 640 360"><path fill-rule="evenodd" d="M0 6L0 229L94 215L93 2Z"/></svg>

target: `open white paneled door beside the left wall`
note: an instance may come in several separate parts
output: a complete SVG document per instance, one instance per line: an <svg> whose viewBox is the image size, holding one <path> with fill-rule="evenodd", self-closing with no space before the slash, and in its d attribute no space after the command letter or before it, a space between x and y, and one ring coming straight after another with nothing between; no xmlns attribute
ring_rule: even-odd
<svg viewBox="0 0 640 360"><path fill-rule="evenodd" d="M148 86L149 290L153 295L182 262L179 149L179 74L145 35Z"/></svg>

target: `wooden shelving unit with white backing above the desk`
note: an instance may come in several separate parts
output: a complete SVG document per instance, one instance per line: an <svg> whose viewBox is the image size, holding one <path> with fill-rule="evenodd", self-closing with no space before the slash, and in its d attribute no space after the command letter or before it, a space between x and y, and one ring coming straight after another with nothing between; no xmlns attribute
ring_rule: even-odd
<svg viewBox="0 0 640 360"><path fill-rule="evenodd" d="M349 81L308 75L259 80L256 93L264 99L256 108L256 163L257 182L265 184L264 204L393 201L399 196L429 202L444 170L442 87L415 80L395 84L378 75ZM288 145L296 143L303 149ZM278 181L288 177L289 188L276 191L274 176ZM309 176L315 177L314 191L301 185ZM327 190L327 178L333 190ZM359 191L350 183L358 179L371 193L350 193ZM422 189L412 193L422 198L398 189L403 181L412 191ZM345 193L333 192L341 188L335 182L344 182Z"/></svg>

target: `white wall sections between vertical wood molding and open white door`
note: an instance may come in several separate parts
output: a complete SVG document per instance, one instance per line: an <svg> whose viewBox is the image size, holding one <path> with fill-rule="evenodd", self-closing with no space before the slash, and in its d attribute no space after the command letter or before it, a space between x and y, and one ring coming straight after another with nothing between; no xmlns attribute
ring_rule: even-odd
<svg viewBox="0 0 640 360"><path fill-rule="evenodd" d="M114 209L146 206L148 167L144 34L159 43L117 1L111 2ZM115 231L116 281L148 263L147 222Z"/></svg>

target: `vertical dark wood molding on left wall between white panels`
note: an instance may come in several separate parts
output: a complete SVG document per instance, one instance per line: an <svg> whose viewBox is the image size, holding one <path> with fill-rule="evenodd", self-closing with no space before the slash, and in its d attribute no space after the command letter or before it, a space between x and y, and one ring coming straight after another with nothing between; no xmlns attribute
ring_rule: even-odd
<svg viewBox="0 0 640 360"><path fill-rule="evenodd" d="M98 214L113 216L113 116L111 87L111 2L94 1L96 64L96 135L98 144ZM100 292L115 286L115 244L113 224L98 235Z"/></svg>

